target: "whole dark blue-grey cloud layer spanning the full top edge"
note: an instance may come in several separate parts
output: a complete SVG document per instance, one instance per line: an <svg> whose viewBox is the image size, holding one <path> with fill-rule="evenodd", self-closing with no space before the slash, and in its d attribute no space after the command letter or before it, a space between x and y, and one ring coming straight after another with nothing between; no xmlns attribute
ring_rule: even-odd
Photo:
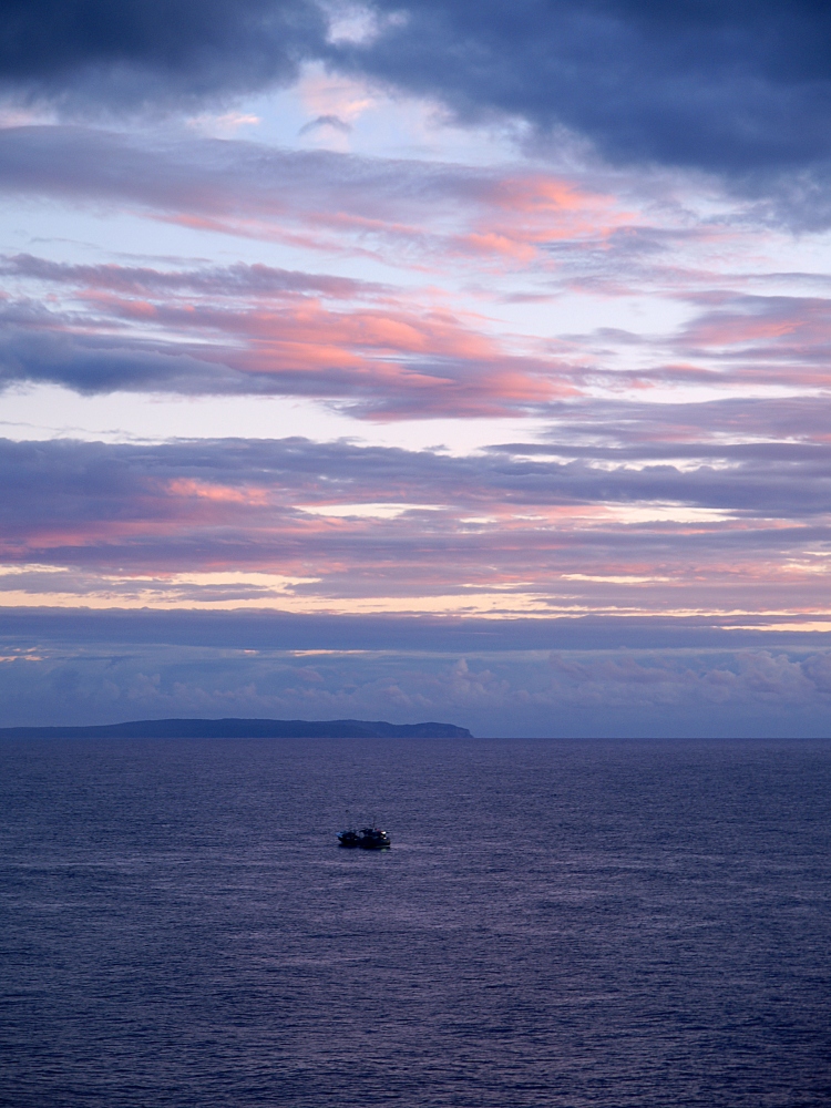
<svg viewBox="0 0 831 1108"><path fill-rule="evenodd" d="M831 157L831 7L810 0L373 0L330 41L309 0L6 0L7 89L147 102L290 80L304 59L462 120L565 126L624 163L751 178ZM327 6L327 11L337 6ZM791 183L789 203L815 189Z"/></svg>

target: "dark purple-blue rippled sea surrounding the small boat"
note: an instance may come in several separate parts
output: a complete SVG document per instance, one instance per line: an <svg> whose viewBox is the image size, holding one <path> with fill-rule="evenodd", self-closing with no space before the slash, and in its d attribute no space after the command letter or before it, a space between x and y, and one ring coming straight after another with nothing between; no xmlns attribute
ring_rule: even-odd
<svg viewBox="0 0 831 1108"><path fill-rule="evenodd" d="M6 742L0 824L2 1105L831 1104L831 742Z"/></svg>

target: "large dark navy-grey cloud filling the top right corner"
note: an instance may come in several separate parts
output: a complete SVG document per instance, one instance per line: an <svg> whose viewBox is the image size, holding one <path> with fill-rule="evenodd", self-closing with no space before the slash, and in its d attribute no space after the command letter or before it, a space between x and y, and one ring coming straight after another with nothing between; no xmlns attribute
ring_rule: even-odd
<svg viewBox="0 0 831 1108"><path fill-rule="evenodd" d="M743 175L831 155L831 7L796 0L377 0L356 70L463 117L565 125L623 162Z"/></svg>

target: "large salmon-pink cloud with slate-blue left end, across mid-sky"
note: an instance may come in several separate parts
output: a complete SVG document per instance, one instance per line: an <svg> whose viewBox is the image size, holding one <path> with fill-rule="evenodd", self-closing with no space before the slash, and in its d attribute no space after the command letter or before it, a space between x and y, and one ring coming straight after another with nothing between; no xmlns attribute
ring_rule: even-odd
<svg viewBox="0 0 831 1108"><path fill-rule="evenodd" d="M514 355L438 307L388 299L336 310L277 291L253 308L229 302L230 288L218 304L195 305L165 297L174 281L163 275L152 297L114 288L131 280L120 281L115 267L101 276L103 289L83 290L94 309L83 327L78 312L27 301L0 306L0 383L52 382L88 394L319 397L356 416L387 419L499 416L576 391L567 366ZM142 280L147 290L146 271Z"/></svg>

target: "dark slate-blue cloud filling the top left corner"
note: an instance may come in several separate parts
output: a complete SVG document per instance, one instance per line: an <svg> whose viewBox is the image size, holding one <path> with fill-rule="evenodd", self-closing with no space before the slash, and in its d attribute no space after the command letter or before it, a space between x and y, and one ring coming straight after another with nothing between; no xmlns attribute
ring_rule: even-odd
<svg viewBox="0 0 831 1108"><path fill-rule="evenodd" d="M306 0L3 0L0 84L134 106L290 81L325 49Z"/></svg>

